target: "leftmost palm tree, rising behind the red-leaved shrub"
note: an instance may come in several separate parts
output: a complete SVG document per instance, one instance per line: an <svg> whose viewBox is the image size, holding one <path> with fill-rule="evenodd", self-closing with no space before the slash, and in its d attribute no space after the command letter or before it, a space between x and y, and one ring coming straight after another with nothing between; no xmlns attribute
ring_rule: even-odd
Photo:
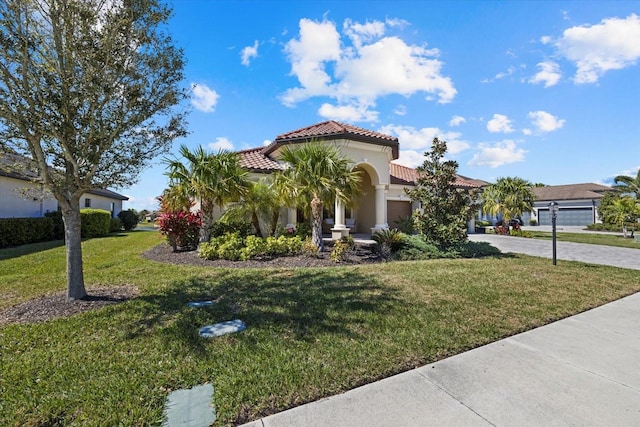
<svg viewBox="0 0 640 427"><path fill-rule="evenodd" d="M215 208L238 200L246 194L248 187L247 170L240 165L237 153L220 150L208 153L201 146L190 151L180 146L180 160L165 160L167 163L170 191L182 193L200 202L202 229L200 241L207 242L215 217Z"/></svg>

